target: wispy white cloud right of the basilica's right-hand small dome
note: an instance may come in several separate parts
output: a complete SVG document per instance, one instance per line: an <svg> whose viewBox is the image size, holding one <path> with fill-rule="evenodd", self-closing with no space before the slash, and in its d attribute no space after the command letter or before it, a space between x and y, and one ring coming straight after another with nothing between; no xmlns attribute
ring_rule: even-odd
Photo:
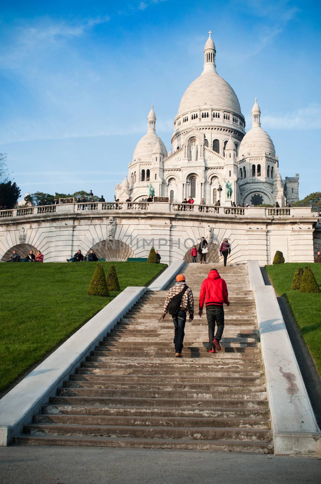
<svg viewBox="0 0 321 484"><path fill-rule="evenodd" d="M247 126L251 126L252 117L247 116ZM271 113L261 117L263 129L315 130L321 129L321 104L311 103L292 112Z"/></svg>

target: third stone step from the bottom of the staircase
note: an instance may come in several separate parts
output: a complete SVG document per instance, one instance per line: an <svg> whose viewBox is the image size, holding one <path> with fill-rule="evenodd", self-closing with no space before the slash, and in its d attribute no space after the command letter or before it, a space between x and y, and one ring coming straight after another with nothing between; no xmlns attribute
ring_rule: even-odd
<svg viewBox="0 0 321 484"><path fill-rule="evenodd" d="M245 418L245 417L173 417L173 416L139 416L139 415L35 415L35 424L58 423L63 425L122 425L122 426L153 426L153 427L208 427L208 428L242 428L242 429L270 429L271 424L268 419Z"/></svg>

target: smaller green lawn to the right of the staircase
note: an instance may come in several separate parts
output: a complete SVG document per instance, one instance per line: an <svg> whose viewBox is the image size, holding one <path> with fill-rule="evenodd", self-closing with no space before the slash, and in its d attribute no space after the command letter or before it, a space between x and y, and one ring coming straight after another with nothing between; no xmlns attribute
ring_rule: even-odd
<svg viewBox="0 0 321 484"><path fill-rule="evenodd" d="M321 375L321 293L309 294L292 291L291 283L294 272L306 263L277 264L265 266L278 295L285 296L289 301L306 346L315 361ZM321 288L321 264L309 264Z"/></svg>

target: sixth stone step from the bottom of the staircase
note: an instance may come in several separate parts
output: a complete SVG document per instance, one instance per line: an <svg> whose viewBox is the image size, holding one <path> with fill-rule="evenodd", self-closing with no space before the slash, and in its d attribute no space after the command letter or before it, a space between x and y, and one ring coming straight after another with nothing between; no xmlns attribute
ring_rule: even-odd
<svg viewBox="0 0 321 484"><path fill-rule="evenodd" d="M135 389L107 389L107 388L58 388L58 396L102 396L102 397L132 397L132 398L183 398L191 399L197 398L202 400L207 399L229 399L235 400L264 400L266 398L265 391L250 391L250 390L229 390L216 391L215 389L206 390L135 390Z"/></svg>

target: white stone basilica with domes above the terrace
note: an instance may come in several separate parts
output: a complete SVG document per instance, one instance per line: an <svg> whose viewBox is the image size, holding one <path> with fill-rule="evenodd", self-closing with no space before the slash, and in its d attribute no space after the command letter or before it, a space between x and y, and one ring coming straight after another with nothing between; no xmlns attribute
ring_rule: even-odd
<svg viewBox="0 0 321 484"><path fill-rule="evenodd" d="M211 31L204 46L204 70L184 92L174 120L169 151L156 133L153 106L147 133L137 143L129 178L116 185L116 198L132 202L168 197L173 203L192 197L195 203L280 206L299 199L299 175L282 180L270 136L261 127L255 98L252 127L232 87L216 71ZM263 118L264 121L264 118Z"/></svg>

